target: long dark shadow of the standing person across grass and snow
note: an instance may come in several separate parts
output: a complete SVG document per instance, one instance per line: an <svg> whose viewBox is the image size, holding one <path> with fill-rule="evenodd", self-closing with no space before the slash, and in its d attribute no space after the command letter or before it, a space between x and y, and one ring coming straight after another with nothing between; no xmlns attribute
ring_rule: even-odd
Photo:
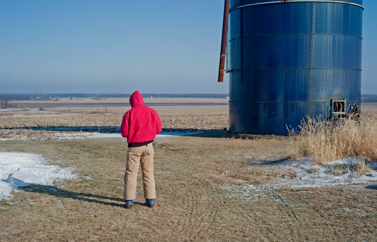
<svg viewBox="0 0 377 242"><path fill-rule="evenodd" d="M16 180L15 178L13 179ZM29 184L27 186L18 187L17 189L23 190L25 192L37 192L37 193L48 194L48 195L52 195L56 197L72 198L72 199L76 199L80 201L95 202L98 204L110 205L114 207L124 207L124 204L125 204L124 199L122 198L113 198L109 196L102 196L102 195L96 195L96 194L84 193L84 192L71 192L71 191L60 189L55 186ZM105 202L105 201L101 201L97 199L107 199L107 200L112 200L116 202ZM117 202L120 202L120 203L117 203ZM144 205L144 203L142 202L134 202L133 204Z"/></svg>

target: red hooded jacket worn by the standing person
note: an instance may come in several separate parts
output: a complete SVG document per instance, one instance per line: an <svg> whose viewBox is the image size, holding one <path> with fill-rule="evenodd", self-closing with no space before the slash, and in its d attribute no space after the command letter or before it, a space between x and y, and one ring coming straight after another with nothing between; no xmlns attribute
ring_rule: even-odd
<svg viewBox="0 0 377 242"><path fill-rule="evenodd" d="M144 143L156 138L162 129L158 114L144 105L143 96L139 91L130 97L131 109L123 115L120 132L127 138L127 143Z"/></svg>

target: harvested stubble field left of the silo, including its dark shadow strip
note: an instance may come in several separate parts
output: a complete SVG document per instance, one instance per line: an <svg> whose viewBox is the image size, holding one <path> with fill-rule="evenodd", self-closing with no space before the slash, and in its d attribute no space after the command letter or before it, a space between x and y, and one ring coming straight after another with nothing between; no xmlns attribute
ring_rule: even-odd
<svg viewBox="0 0 377 242"><path fill-rule="evenodd" d="M163 104L149 107L159 113L164 132L216 132L228 126L227 99L146 99L146 105L149 105L150 100ZM97 105L99 102L101 107ZM120 105L107 106L109 102L117 102ZM130 108L129 104L124 104L127 102L128 99L14 102L14 105L22 108L0 112L0 139L31 139L33 136L50 139L54 137L54 132L50 131L119 132L123 114ZM25 108L44 103L44 107ZM49 108L49 103L54 103L55 106L60 104L63 107ZM97 103L97 106L92 103ZM75 104L82 107L76 107ZM46 132L42 137L40 132L34 131L49 133Z"/></svg>

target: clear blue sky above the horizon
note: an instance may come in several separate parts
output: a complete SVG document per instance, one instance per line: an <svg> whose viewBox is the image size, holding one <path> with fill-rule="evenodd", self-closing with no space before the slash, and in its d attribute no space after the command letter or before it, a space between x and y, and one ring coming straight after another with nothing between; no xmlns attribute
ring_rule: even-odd
<svg viewBox="0 0 377 242"><path fill-rule="evenodd" d="M0 0L0 93L227 93L223 0ZM362 93L377 93L364 0Z"/></svg>

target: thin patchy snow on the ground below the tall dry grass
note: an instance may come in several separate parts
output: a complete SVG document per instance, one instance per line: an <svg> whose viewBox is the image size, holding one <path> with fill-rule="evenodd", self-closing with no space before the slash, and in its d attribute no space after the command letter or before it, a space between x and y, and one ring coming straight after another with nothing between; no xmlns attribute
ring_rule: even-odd
<svg viewBox="0 0 377 242"><path fill-rule="evenodd" d="M305 189L308 187L339 186L369 184L377 182L377 164L366 163L367 171L359 175L355 166L361 163L359 158L346 158L326 164L313 164L309 158L300 160L286 160L277 164L266 165L267 170L279 170L282 173L292 174L274 178L273 183L233 185L223 184L222 189L230 191L229 198L241 197L246 201L258 201L261 198L269 197L272 200L279 200L276 189ZM227 172L223 172L227 174ZM268 172L266 173L268 176ZM306 192L306 191L301 191Z"/></svg>

